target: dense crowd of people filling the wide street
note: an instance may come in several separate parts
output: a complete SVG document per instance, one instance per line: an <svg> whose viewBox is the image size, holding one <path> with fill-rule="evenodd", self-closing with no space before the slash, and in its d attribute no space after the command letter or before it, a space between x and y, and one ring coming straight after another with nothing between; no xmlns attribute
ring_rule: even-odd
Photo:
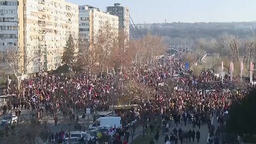
<svg viewBox="0 0 256 144"><path fill-rule="evenodd" d="M181 143L190 143L194 142L195 138L199 142L199 131L173 129L170 134L171 119L176 126L189 123L193 125L193 129L195 126L200 128L201 125L206 124L209 132L213 132L212 115L228 110L231 102L242 99L252 86L244 82L245 88L241 90L237 87L239 79L234 78L231 82L228 76L221 83L212 69L203 69L199 75L194 75L193 71L187 70L186 73L174 76L178 71L185 71L183 70L185 63L181 62L181 59L182 57L166 57L152 65L133 67L123 73L99 74L94 78L89 77L85 72L75 73L71 77L69 74L40 74L38 77L25 79L22 82L22 99L14 97L5 109L11 110L12 107L15 110L31 109L38 118L42 118L44 113L50 113L56 125L58 117L55 114L61 111L63 119L69 118L70 121L75 121L78 119L75 111L85 111L86 108L91 108L93 111L108 110L109 106L113 105L113 99L120 98L118 94L123 89L122 85L119 85L120 79L133 79L153 88L157 93L153 98L145 101L145 115L139 116L147 121L146 126L151 130L155 126L153 120L157 120L157 117L161 119L155 140L150 141L150 144L155 143L161 134L165 135L166 143L177 143L178 140ZM162 89L162 84L168 81L172 83L172 93L166 93ZM14 83L9 87L10 94L18 95L15 88L17 86ZM132 104L137 103L132 101ZM124 122L129 123L138 118L137 113L141 114L140 109L118 115L122 116ZM218 118L221 126L223 124L221 115ZM124 133L127 131L119 132L114 143L127 143L129 139L124 140L125 138L122 137ZM61 141L64 138L63 135L65 135L64 131L51 133L49 137ZM216 137L213 142L217 143L217 141Z"/></svg>

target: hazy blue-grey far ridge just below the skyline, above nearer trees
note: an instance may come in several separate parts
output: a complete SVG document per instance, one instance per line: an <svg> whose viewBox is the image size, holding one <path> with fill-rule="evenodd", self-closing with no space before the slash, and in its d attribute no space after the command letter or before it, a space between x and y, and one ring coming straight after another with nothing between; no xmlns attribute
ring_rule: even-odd
<svg viewBox="0 0 256 144"><path fill-rule="evenodd" d="M228 33L238 35L240 38L251 36L256 30L255 22L197 22L197 23L149 23L137 24L139 35L146 35L149 31L153 35L180 38L206 38L211 39ZM132 31L132 30L131 30ZM132 31L133 33L133 31Z"/></svg>

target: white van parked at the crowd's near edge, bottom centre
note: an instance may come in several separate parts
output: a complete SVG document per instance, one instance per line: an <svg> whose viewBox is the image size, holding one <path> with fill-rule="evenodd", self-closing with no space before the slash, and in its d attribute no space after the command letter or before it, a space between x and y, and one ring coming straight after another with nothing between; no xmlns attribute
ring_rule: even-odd
<svg viewBox="0 0 256 144"><path fill-rule="evenodd" d="M116 129L122 129L121 117L100 117L97 121L89 125L89 130L97 129L100 126L109 125Z"/></svg>

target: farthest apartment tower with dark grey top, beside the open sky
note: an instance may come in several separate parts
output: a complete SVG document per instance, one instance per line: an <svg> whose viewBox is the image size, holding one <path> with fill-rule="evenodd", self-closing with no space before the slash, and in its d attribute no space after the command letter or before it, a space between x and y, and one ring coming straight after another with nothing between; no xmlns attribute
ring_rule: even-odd
<svg viewBox="0 0 256 144"><path fill-rule="evenodd" d="M119 29L125 31L130 36L130 11L127 7L122 6L119 3L115 3L114 6L108 6L107 12L116 15L119 21Z"/></svg>

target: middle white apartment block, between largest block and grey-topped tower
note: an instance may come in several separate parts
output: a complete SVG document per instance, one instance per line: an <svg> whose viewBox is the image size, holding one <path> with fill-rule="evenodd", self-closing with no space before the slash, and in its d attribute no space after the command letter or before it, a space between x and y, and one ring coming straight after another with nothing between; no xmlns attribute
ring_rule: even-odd
<svg viewBox="0 0 256 144"><path fill-rule="evenodd" d="M118 17L108 12L103 12L97 7L90 5L79 6L79 36L92 41L105 23L108 22L113 30L118 33Z"/></svg>

